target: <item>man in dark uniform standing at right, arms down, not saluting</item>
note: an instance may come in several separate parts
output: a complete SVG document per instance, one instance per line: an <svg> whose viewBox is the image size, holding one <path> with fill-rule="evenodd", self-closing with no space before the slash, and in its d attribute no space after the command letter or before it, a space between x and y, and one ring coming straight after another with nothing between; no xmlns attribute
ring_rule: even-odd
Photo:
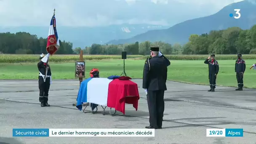
<svg viewBox="0 0 256 144"><path fill-rule="evenodd" d="M237 85L236 91L243 91L243 73L245 72L245 61L242 59L242 54L237 54L237 60L235 61L235 72L237 73Z"/></svg>

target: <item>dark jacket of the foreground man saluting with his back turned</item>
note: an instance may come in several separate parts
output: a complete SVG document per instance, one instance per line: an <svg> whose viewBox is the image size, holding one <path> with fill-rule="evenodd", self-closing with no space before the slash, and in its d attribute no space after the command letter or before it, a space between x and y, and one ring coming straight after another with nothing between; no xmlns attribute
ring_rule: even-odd
<svg viewBox="0 0 256 144"><path fill-rule="evenodd" d="M165 56L154 56L147 59L143 70L143 88L148 91L166 91L167 67L170 61Z"/></svg>

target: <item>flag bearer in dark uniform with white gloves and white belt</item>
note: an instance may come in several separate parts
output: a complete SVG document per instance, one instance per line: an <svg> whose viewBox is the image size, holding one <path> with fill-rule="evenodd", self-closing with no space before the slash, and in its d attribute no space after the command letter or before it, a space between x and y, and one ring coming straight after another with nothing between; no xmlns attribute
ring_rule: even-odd
<svg viewBox="0 0 256 144"><path fill-rule="evenodd" d="M48 57L48 55L46 56ZM41 102L41 107L50 107L50 105L48 104L48 92L51 84L51 69L49 64L47 64L47 61L42 60L44 57L45 55L42 53L40 55L40 62L37 64L39 70L39 101ZM45 73L47 75L45 75Z"/></svg>

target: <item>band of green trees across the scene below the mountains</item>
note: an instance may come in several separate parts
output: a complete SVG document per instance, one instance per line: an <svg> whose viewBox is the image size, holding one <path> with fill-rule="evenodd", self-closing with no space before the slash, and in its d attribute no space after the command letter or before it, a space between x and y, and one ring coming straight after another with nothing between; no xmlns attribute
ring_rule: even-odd
<svg viewBox="0 0 256 144"><path fill-rule="evenodd" d="M37 35L31 35L27 32L0 33L0 53L23 53L40 54L46 52L47 37L37 38ZM119 45L100 45L92 44L85 47L85 54L121 54L126 51L127 54L149 55L150 46L159 46L164 54L235 54L235 53L256 53L256 25L251 29L242 30L239 27L230 27L223 30L212 30L201 35L190 35L188 43L184 45L164 43L162 41L142 43L135 42ZM81 48L72 49L71 42L60 43L61 47L56 54L78 54Z"/></svg>

